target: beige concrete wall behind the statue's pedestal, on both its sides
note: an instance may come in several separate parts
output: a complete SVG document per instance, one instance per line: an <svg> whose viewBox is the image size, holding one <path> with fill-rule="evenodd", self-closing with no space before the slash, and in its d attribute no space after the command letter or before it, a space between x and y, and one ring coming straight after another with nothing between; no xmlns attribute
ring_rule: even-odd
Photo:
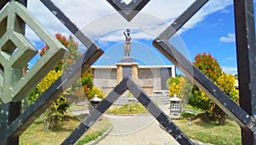
<svg viewBox="0 0 256 145"><path fill-rule="evenodd" d="M94 73L94 85L102 89L106 95L108 95L117 85L117 67L100 66L92 68ZM153 96L155 90L164 90L166 88L166 78L171 76L175 77L174 69L174 66L167 66L166 68L165 66L139 66L137 71L137 84L148 96Z"/></svg>

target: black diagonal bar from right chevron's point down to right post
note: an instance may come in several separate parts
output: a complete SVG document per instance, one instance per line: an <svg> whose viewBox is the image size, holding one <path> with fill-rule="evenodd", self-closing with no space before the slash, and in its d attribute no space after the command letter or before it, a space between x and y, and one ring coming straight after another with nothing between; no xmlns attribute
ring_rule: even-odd
<svg viewBox="0 0 256 145"><path fill-rule="evenodd" d="M255 131L255 122L251 120L251 116L233 102L230 96L227 96L216 84L212 83L205 74L201 73L201 71L188 61L177 49L167 41L161 39L154 40L154 46L185 73L193 83L201 88L213 102L216 102L218 107L235 119L238 125L247 130Z"/></svg>

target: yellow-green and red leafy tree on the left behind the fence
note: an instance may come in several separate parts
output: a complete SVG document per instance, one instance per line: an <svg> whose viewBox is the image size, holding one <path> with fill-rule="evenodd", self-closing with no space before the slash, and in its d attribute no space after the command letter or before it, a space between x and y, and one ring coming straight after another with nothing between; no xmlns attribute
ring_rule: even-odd
<svg viewBox="0 0 256 145"><path fill-rule="evenodd" d="M81 55L81 53L78 52L78 43L74 42L73 37L70 36L68 39L59 33L55 35L55 37L63 44L69 51L64 56L64 58L54 67L53 70L51 70L45 78L36 86L34 90L30 93L30 95L27 97L29 102L34 102L38 96L40 96L46 89L49 88L49 86L55 82L57 78L61 76L61 73L63 70L65 70L67 67L69 67L71 64L73 64L74 61ZM39 55L42 56L45 53L47 53L49 49L48 45L45 45L39 52ZM83 87L80 87L82 84ZM74 91L71 91L71 88L74 88ZM91 69L87 70L85 73L83 73L83 76L80 80L80 82L76 82L73 84L73 86L67 91L65 91L54 103L51 105L44 113L43 115L43 121L44 125L46 126L47 130L51 130L55 124L60 121L64 117L64 113L66 113L68 104L67 104L67 98L75 95L79 95L79 99L83 100L86 97L85 95L89 96L90 91L92 89L92 71ZM79 94L76 94L79 90Z"/></svg>

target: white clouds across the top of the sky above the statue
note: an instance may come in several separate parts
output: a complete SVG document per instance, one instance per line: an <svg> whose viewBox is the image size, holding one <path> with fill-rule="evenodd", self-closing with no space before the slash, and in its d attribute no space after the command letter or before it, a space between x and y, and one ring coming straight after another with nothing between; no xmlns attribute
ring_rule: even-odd
<svg viewBox="0 0 256 145"><path fill-rule="evenodd" d="M132 32L134 33L131 33L133 39L156 38L177 16L195 2L191 0L151 0L131 22L127 22L107 1L96 0L93 3L80 0L61 0L61 3L57 0L52 1L90 38L101 38L101 41L107 42L124 40L122 31L126 27L131 27L131 31L133 29ZM124 2L128 3L129 0ZM208 2L183 26L181 32L193 28L198 22L204 20L208 14L224 10L231 3L231 0ZM28 9L52 35L56 32L71 33L53 14L50 14L43 3L28 1ZM30 33L30 31L27 31L27 33ZM27 34L27 36L30 36L34 41L37 40L32 37L32 34Z"/></svg>

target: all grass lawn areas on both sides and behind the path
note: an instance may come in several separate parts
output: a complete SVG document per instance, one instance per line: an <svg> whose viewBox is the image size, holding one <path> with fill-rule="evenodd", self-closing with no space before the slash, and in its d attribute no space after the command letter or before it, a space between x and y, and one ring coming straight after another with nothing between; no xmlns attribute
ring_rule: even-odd
<svg viewBox="0 0 256 145"><path fill-rule="evenodd" d="M192 108L193 109L193 108ZM140 103L126 104L123 107L112 107L108 113L126 114L126 113L148 113ZM69 134L79 125L84 117L66 116L63 123L57 125L53 131L44 131L44 125L41 119L37 119L21 136L21 145L51 145L61 144ZM192 125L189 126L189 118L192 119ZM233 145L241 144L241 130L234 121L228 120L226 125L218 125L217 122L207 118L206 115L195 113L182 113L182 119L174 120L174 123L190 138L212 144ZM103 118L96 122L92 129L86 132L77 142L82 145L101 136L102 132L107 131L111 126L110 120Z"/></svg>

